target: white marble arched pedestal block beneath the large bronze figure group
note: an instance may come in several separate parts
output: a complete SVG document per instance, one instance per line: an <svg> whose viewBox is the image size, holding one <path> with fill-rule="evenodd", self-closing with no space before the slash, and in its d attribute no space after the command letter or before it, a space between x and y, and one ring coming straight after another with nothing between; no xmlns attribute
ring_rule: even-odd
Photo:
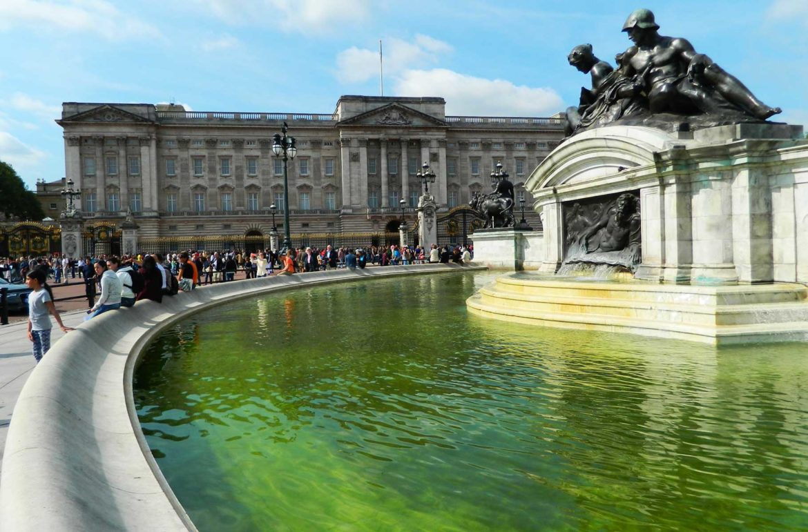
<svg viewBox="0 0 808 532"><path fill-rule="evenodd" d="M808 282L808 253L800 253L808 241L808 141L799 128L739 124L679 137L613 126L550 153L525 183L544 222L541 270L553 273L564 258L566 208L631 192L640 196L642 223L636 278Z"/></svg>

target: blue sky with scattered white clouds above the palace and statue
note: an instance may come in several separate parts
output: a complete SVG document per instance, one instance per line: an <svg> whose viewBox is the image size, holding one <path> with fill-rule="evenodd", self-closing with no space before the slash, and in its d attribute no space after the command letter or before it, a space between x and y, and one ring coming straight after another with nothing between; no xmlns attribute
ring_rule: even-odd
<svg viewBox="0 0 808 532"><path fill-rule="evenodd" d="M334 111L340 94L441 96L449 115L547 116L613 63L638 7L808 124L808 0L0 0L0 160L29 188L64 176L62 102Z"/></svg>

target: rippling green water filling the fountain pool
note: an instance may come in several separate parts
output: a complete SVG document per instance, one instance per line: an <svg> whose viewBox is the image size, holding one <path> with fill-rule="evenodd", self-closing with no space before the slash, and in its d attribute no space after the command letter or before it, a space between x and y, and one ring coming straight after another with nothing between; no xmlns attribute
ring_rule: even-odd
<svg viewBox="0 0 808 532"><path fill-rule="evenodd" d="M240 300L135 400L200 530L805 530L808 346L470 316L490 274Z"/></svg>

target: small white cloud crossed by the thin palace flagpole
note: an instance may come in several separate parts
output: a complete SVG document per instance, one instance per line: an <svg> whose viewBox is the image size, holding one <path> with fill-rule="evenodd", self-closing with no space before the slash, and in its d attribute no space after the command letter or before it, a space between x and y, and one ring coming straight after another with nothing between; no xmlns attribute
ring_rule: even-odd
<svg viewBox="0 0 808 532"><path fill-rule="evenodd" d="M439 54L452 47L428 36L416 36L415 43L401 39L382 40L385 77L398 77L407 69L423 68L436 63ZM379 75L379 50L356 48L337 54L337 77L342 82L366 82Z"/></svg>

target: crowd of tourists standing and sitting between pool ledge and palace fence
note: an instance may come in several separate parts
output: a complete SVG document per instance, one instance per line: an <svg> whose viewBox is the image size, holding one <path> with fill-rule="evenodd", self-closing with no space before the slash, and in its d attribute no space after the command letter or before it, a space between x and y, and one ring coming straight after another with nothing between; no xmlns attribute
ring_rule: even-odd
<svg viewBox="0 0 808 532"><path fill-rule="evenodd" d="M90 258L22 257L0 258L0 277L11 283L24 283L32 290L28 295L28 339L33 344L36 362L50 348L51 320L65 332L61 315L53 304L53 290L48 281L68 284L71 280L85 287L88 310L85 320L121 307L131 307L139 300L162 302L163 297L192 291L200 285L234 281L243 271L246 279L269 275L290 275L318 270L364 269L375 266L397 266L426 262L464 263L472 259L473 249L462 246L431 245L429 249L408 245L373 245L368 249L315 246L271 249L255 253L226 251L208 253L187 250L180 253L99 255ZM78 279L78 281L77 281Z"/></svg>

